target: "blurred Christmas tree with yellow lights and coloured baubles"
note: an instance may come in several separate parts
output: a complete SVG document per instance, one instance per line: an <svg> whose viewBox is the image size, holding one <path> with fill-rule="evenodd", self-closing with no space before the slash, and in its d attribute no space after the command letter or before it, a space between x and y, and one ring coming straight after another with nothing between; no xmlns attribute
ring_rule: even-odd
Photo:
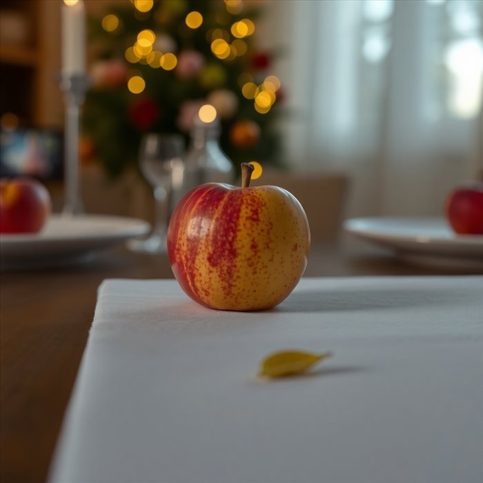
<svg viewBox="0 0 483 483"><path fill-rule="evenodd" d="M90 19L96 52L83 106L84 154L111 176L137 163L144 132L188 139L201 106L215 107L221 147L236 166L276 164L282 97L272 55L257 50L254 0L126 0ZM87 148L86 148L87 145Z"/></svg>

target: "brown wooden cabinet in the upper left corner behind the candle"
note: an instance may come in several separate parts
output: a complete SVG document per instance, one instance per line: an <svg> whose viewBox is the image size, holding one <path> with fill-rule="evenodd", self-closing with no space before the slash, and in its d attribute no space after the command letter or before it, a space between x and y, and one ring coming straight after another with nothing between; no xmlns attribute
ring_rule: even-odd
<svg viewBox="0 0 483 483"><path fill-rule="evenodd" d="M61 127L60 7L57 0L0 1L0 115L23 126Z"/></svg>

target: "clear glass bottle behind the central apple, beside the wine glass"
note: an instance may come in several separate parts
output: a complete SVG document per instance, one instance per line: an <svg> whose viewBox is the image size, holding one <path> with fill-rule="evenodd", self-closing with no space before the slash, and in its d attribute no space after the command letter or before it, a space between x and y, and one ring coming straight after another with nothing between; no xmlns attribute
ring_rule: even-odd
<svg viewBox="0 0 483 483"><path fill-rule="evenodd" d="M171 213L179 200L196 186L235 181L233 164L219 146L220 135L218 119L209 123L195 119L190 146L183 157L183 170L172 176Z"/></svg>

